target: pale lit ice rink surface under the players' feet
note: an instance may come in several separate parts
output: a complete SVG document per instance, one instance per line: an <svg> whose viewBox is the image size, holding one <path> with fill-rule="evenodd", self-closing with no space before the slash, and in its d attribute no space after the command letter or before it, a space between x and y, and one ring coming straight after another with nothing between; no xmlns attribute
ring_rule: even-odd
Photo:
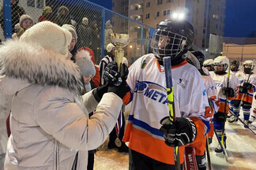
<svg viewBox="0 0 256 170"><path fill-rule="evenodd" d="M243 115L243 114L242 114ZM243 116L240 116L243 119ZM256 122L250 125L256 132ZM226 122L228 162L223 153L215 153L216 137L209 146L213 170L255 170L256 169L256 136L243 127L239 121L233 124ZM108 150L107 142L100 146L95 156L95 170L127 170L128 153ZM207 164L207 160L206 160ZM207 165L208 169L208 165Z"/></svg>

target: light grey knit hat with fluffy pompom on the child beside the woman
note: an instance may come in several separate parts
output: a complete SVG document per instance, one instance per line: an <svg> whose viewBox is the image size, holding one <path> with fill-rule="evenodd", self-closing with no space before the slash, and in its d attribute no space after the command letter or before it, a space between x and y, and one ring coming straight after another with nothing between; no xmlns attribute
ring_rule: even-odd
<svg viewBox="0 0 256 170"><path fill-rule="evenodd" d="M96 70L93 62L91 60L91 56L87 50L81 50L77 53L77 61L75 62L80 68L82 75L92 75L95 76Z"/></svg>

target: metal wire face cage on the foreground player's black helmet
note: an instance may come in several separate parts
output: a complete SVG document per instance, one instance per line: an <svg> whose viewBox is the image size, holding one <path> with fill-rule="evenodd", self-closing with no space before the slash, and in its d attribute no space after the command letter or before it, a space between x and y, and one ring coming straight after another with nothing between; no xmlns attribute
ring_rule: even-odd
<svg viewBox="0 0 256 170"><path fill-rule="evenodd" d="M154 32L152 37L152 52L160 61L167 56L174 59L183 52L186 41L187 38L183 35L165 31L164 28L159 28Z"/></svg>

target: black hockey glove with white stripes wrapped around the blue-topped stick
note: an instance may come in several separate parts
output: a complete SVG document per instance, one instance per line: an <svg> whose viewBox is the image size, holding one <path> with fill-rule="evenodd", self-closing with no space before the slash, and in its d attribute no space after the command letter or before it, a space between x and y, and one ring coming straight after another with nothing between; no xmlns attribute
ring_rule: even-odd
<svg viewBox="0 0 256 170"><path fill-rule="evenodd" d="M175 124L171 125L168 116L160 120L160 131L164 133L165 143L168 146L184 146L187 143L193 142L197 135L197 127L193 120L185 117L177 117Z"/></svg>

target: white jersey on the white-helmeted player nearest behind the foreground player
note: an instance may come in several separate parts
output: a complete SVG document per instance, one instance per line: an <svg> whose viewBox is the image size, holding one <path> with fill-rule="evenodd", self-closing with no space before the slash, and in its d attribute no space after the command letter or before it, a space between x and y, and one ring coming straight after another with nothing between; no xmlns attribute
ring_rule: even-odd
<svg viewBox="0 0 256 170"><path fill-rule="evenodd" d="M221 88L227 87L228 73L226 73L224 75L217 75L215 72L210 72L210 75L216 84L217 97L220 99L220 106L219 106L218 111L221 113L224 113L226 96L222 93ZM231 87L235 91L237 86L238 86L238 80L237 80L236 76L233 74L230 74L228 87ZM228 97L228 101L230 101L232 99L234 99L234 98ZM228 112L228 109L229 109L229 107L227 105L226 113Z"/></svg>

